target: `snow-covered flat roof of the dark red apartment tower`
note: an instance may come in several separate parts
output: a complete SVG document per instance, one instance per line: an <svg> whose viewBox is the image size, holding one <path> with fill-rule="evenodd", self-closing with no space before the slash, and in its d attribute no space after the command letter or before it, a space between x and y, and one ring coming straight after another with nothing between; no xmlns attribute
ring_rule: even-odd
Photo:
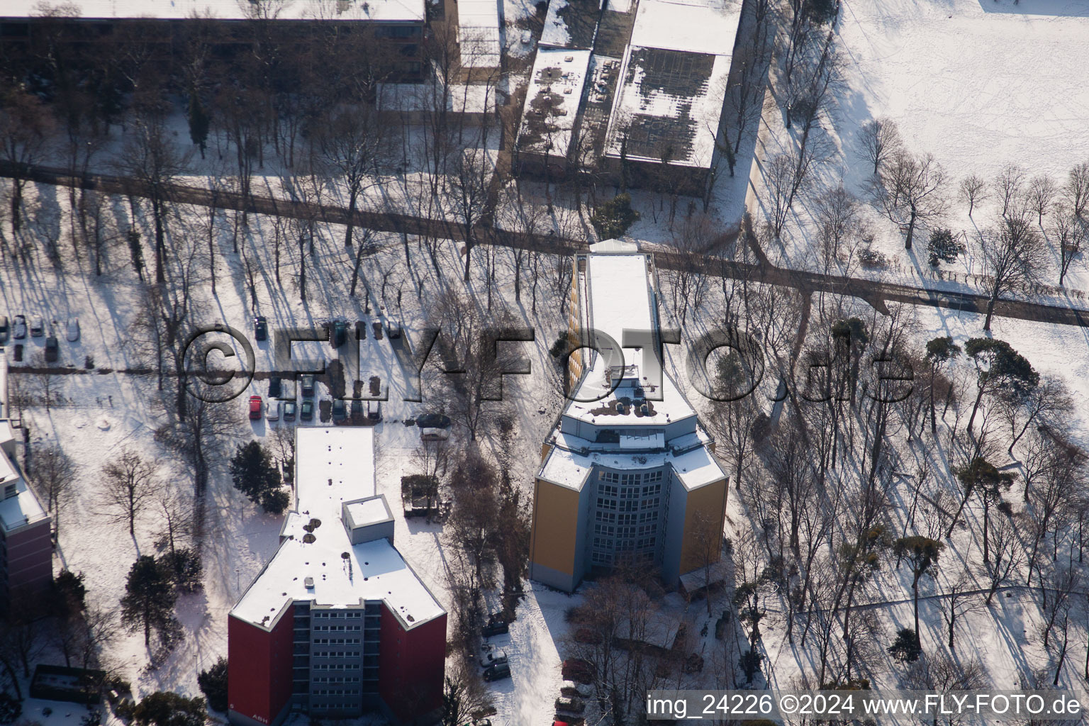
<svg viewBox="0 0 1089 726"><path fill-rule="evenodd" d="M298 428L295 455L296 502L280 549L231 615L271 629L293 601L333 607L382 601L405 629L441 616L442 606L389 540L353 545L341 520L345 502L375 494L374 429Z"/></svg>

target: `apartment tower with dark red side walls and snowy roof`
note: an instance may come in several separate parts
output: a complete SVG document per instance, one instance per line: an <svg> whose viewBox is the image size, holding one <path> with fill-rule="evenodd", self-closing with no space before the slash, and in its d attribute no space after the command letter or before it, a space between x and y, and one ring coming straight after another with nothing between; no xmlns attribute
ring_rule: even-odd
<svg viewBox="0 0 1089 726"><path fill-rule="evenodd" d="M280 549L228 622L228 717L426 721L442 705L446 613L393 546L370 428L299 428Z"/></svg>

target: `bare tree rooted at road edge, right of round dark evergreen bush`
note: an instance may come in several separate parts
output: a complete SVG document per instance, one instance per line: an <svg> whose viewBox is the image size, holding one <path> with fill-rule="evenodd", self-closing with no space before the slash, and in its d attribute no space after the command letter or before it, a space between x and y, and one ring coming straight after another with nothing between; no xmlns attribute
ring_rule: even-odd
<svg viewBox="0 0 1089 726"><path fill-rule="evenodd" d="M979 233L977 244L989 288L983 330L991 329L994 304L1000 297L1037 281L1044 263L1042 242L1040 233L1017 217L1004 216L998 229Z"/></svg>

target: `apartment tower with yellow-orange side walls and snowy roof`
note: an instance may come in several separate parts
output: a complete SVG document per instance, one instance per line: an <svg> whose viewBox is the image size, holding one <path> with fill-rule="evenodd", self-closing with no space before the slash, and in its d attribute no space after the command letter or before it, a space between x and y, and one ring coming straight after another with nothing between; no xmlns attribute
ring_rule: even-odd
<svg viewBox="0 0 1089 726"><path fill-rule="evenodd" d="M575 256L571 295L573 345L597 347L572 355L568 402L541 451L529 576L571 591L626 561L674 585L718 561L729 487L658 358L653 257L615 239L591 245Z"/></svg>

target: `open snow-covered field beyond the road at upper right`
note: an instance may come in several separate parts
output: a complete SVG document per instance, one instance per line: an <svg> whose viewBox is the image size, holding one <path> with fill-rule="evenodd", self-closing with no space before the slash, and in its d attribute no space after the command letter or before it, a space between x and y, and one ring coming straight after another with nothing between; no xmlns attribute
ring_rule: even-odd
<svg viewBox="0 0 1089 726"><path fill-rule="evenodd" d="M896 282L946 287L928 264L926 241L930 230L947 226L970 242L978 230L994 223L994 193L977 205L971 218L958 197L960 181L978 174L990 183L1006 164L1036 175L1050 175L1059 185L1069 169L1089 160L1089 87L1070 69L1089 57L1089 7L1082 2L1041 0L844 0L834 42L843 60L841 85L822 114L831 146L813 177L792 209L782 246L769 249L794 267L817 264L812 245L815 202L823 190L842 183L862 200L862 220L873 248L889 260L883 270L856 274ZM766 106L762 146L752 176L757 186L752 208L768 209L763 187L767 160L797 145L797 127L786 130L782 99ZM895 122L906 150L933 155L945 173L941 192L945 214L920 226L914 249L904 249L903 234L867 202L867 161L859 132L874 119ZM1053 258L1042 271L1043 282L1057 285L1057 253L1044 218L1044 233ZM856 266L857 267L857 266ZM943 264L945 276L982 272L969 244L968 255ZM978 280L965 290L978 292ZM1089 294L1089 270L1078 256L1059 299L1084 307ZM1055 297L1054 295L1052 297ZM1051 299L1049 302L1056 302Z"/></svg>

